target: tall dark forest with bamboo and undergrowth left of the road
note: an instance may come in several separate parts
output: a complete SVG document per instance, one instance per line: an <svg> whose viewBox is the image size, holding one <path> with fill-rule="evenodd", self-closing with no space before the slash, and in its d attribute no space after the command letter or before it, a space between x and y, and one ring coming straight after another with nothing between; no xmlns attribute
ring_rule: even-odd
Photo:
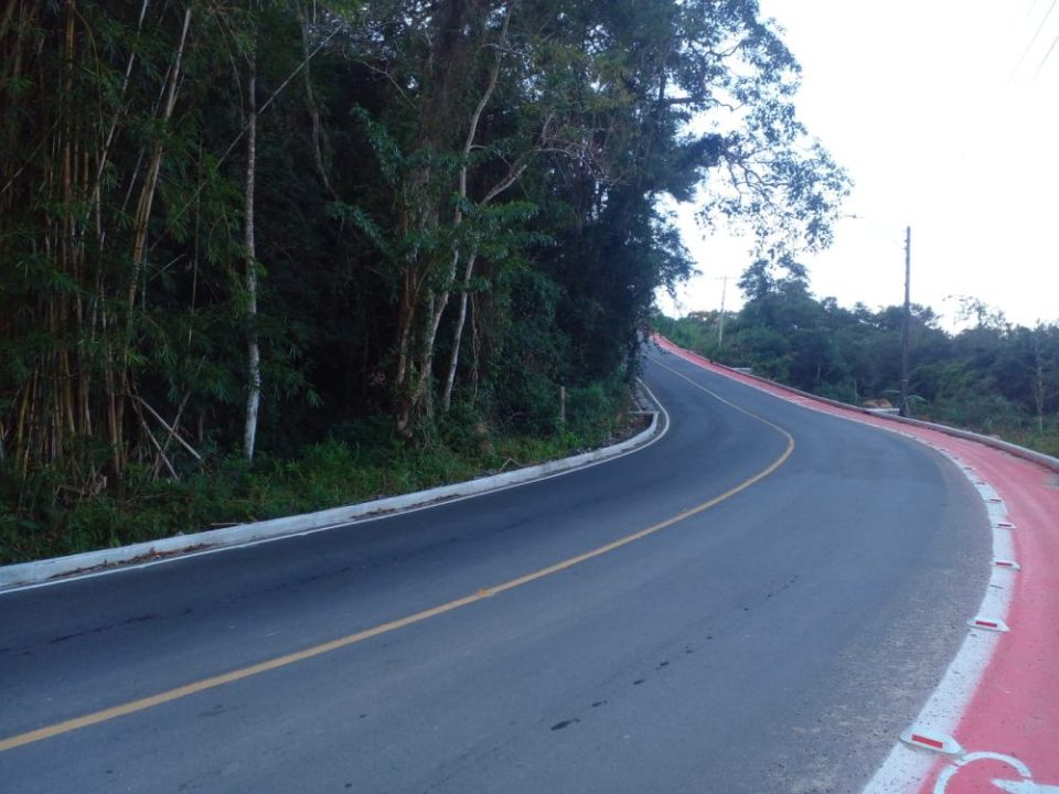
<svg viewBox="0 0 1059 794"><path fill-rule="evenodd" d="M752 0L3 0L0 562L614 432L660 196L827 244L798 83Z"/></svg>

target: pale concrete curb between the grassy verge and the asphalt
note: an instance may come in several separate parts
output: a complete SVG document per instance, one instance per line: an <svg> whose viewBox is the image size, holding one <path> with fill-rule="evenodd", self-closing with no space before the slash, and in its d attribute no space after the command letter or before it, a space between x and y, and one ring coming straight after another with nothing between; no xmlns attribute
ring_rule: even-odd
<svg viewBox="0 0 1059 794"><path fill-rule="evenodd" d="M654 399L653 395L651 395L651 399ZM388 496L386 498L361 502L343 507L332 507L331 509L318 511L315 513L303 513L296 516L270 518L268 521L253 522L249 524L237 524L236 526L221 529L178 535L175 537L148 540L118 548L99 549L98 551L86 551L67 557L53 557L33 562L0 566L0 591L26 584L39 584L60 577L73 577L75 575L94 572L113 566L151 562L190 551L236 547L308 532L334 528L356 521L379 518L416 507L426 507L441 502L477 496L491 491L500 491L534 480L542 480L555 474L561 474L575 469L600 463L605 460L632 452L661 437L665 428L665 422L660 420L660 416L663 414L661 406L657 405L657 400L654 400L654 403L657 410L644 411L651 416L651 423L648 429L610 447L582 452L571 458L563 458L538 465L526 466L525 469L517 469L504 474L493 474L478 478L477 480L453 483L451 485L441 485L427 491L418 491L399 496Z"/></svg>

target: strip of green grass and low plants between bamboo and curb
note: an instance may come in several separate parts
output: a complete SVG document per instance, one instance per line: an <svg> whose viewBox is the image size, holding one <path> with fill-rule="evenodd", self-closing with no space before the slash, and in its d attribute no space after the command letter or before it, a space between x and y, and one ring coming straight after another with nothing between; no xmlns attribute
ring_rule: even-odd
<svg viewBox="0 0 1059 794"><path fill-rule="evenodd" d="M253 466L237 455L217 458L180 480L131 468L120 493L90 498L64 500L52 472L9 479L0 483L0 565L309 513L564 458L632 432L623 411L603 408L576 431L544 438L450 422L413 443L383 422L360 423L295 458L265 454Z"/></svg>

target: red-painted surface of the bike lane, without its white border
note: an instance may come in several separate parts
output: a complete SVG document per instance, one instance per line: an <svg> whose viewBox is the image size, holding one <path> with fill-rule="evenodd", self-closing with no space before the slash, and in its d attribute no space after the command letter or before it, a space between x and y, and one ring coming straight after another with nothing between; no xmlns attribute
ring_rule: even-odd
<svg viewBox="0 0 1059 794"><path fill-rule="evenodd" d="M655 342L732 380L793 399L785 389L713 364L668 340L655 337ZM1004 634L998 643L963 713L955 739L967 752L990 751L1017 758L1033 770L1036 783L1059 786L1059 475L1001 450L938 430L898 425L824 403L814 408L900 430L934 446L943 443L1003 500L1008 521L997 526L1019 527L1012 534L1016 559L1021 565L1018 577L1012 581L1014 594L1007 622L1013 631ZM939 759L917 791L933 794L938 775L951 769L951 760ZM990 764L994 769L988 769ZM997 794L1002 790L993 785L993 779L1018 780L1018 775L1001 774L1004 771L1001 766L996 762L967 764L951 776L944 792Z"/></svg>

